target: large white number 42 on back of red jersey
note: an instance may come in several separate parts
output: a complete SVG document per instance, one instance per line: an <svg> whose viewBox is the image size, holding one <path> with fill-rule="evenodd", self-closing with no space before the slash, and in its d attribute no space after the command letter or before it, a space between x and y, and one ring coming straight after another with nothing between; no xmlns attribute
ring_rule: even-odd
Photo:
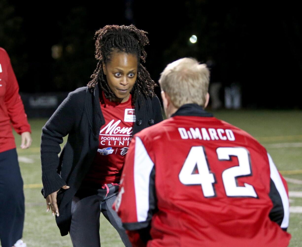
<svg viewBox="0 0 302 247"><path fill-rule="evenodd" d="M226 195L228 197L258 198L252 185L244 183L244 186L237 186L236 184L236 177L252 175L249 151L243 147L220 147L217 148L216 152L219 161L231 160L231 156L236 156L239 161L239 166L227 168L222 172ZM195 173L195 167L197 167L198 173ZM215 175L210 172L203 146L191 147L178 177L180 182L185 185L201 184L204 197L216 196Z"/></svg>

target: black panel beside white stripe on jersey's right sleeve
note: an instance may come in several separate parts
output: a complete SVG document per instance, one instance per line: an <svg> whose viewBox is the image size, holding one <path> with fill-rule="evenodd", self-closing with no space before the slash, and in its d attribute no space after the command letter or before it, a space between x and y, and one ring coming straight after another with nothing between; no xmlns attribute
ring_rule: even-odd
<svg viewBox="0 0 302 247"><path fill-rule="evenodd" d="M276 223L278 223L279 226L281 226L282 220L284 218L284 208L283 208L281 196L272 179L270 182L270 187L271 188L269 191L269 197L273 202L273 208L269 213L269 218L271 219L271 221L275 221Z"/></svg>

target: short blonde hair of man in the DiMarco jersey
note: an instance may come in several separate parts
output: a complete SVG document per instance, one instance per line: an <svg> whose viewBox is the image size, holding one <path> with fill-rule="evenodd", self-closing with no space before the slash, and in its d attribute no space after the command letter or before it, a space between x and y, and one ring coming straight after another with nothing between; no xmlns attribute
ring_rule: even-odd
<svg viewBox="0 0 302 247"><path fill-rule="evenodd" d="M169 94L176 108L190 103L204 106L209 80L210 71L206 64L185 57L165 67L160 75L159 85L162 91Z"/></svg>

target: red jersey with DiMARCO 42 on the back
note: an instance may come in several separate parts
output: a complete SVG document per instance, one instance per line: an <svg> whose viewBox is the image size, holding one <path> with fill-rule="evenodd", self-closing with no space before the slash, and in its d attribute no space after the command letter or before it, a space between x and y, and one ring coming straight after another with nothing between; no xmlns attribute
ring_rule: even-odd
<svg viewBox="0 0 302 247"><path fill-rule="evenodd" d="M265 148L208 116L176 114L136 134L115 209L130 232L151 222L147 246L275 247L291 238L286 182Z"/></svg>

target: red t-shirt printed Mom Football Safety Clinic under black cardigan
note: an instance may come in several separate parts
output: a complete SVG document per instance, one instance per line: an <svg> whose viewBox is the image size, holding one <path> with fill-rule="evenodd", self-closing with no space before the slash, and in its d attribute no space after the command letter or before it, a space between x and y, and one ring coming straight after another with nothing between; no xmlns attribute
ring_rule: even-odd
<svg viewBox="0 0 302 247"><path fill-rule="evenodd" d="M124 103L109 101L104 92L102 96L104 103L100 105L105 124L101 127L98 151L85 180L98 184L117 183L132 139L135 112L131 94Z"/></svg>

